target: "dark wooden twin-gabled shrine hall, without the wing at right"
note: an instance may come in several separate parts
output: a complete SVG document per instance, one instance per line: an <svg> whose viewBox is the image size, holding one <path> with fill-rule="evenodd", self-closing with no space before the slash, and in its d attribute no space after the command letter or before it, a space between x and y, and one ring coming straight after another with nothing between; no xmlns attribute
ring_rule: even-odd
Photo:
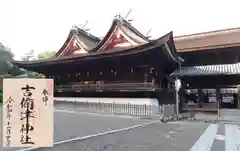
<svg viewBox="0 0 240 151"><path fill-rule="evenodd" d="M179 67L173 33L149 40L117 16L103 39L74 27L51 58L12 61L54 78L57 96L159 97L174 101L170 74Z"/></svg>

